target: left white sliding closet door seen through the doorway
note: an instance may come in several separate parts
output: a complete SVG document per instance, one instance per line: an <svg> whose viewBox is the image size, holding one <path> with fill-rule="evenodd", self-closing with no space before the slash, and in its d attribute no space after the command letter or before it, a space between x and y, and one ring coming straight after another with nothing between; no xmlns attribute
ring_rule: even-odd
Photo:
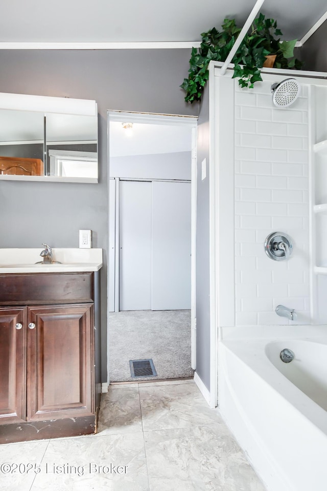
<svg viewBox="0 0 327 491"><path fill-rule="evenodd" d="M151 309L151 183L120 182L120 310Z"/></svg>

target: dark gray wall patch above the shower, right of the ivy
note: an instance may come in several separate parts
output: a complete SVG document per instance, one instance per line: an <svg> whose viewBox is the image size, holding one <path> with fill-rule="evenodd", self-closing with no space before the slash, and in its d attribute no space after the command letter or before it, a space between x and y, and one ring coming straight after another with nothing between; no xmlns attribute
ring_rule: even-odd
<svg viewBox="0 0 327 491"><path fill-rule="evenodd" d="M303 70L327 72L327 20L300 49Z"/></svg>

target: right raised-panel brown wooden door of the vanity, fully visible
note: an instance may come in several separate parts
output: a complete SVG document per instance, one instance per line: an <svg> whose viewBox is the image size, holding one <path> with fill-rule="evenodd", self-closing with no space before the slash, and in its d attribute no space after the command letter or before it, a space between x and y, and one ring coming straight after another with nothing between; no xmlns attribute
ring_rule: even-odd
<svg viewBox="0 0 327 491"><path fill-rule="evenodd" d="M94 412L93 315L91 304L28 307L29 420Z"/></svg>

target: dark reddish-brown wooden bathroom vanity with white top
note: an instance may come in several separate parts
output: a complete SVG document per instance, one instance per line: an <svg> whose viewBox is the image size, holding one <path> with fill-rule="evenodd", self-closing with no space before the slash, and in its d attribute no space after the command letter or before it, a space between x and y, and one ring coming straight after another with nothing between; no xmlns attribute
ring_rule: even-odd
<svg viewBox="0 0 327 491"><path fill-rule="evenodd" d="M94 433L101 392L102 250L54 250L57 260L76 251L79 262L71 257L44 265L26 258L4 264L3 251L0 443Z"/></svg>

